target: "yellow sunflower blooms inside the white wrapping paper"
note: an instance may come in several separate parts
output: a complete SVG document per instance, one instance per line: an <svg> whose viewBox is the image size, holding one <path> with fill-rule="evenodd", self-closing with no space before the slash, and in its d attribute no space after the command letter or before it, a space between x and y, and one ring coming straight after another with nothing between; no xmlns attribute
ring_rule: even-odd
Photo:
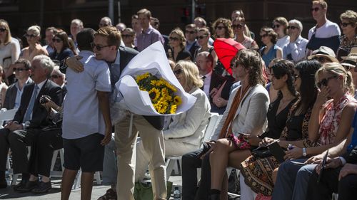
<svg viewBox="0 0 357 200"><path fill-rule="evenodd" d="M136 76L141 91L147 91L155 110L160 114L175 114L181 104L180 96L175 95L177 89L164 78L157 78L151 73Z"/></svg>

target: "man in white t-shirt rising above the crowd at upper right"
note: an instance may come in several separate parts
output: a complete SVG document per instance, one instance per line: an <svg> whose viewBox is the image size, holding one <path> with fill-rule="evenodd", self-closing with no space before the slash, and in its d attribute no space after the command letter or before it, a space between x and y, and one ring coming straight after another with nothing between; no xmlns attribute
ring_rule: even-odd
<svg viewBox="0 0 357 200"><path fill-rule="evenodd" d="M315 35L315 38L331 38L333 36L341 35L341 31L338 24L329 21L326 17L326 12L326 1L316 0L312 2L311 14L313 16L313 19L316 20L316 26L313 26L313 28L308 31L309 41L313 37L313 34ZM311 49L308 49L308 55L311 55L311 52Z"/></svg>

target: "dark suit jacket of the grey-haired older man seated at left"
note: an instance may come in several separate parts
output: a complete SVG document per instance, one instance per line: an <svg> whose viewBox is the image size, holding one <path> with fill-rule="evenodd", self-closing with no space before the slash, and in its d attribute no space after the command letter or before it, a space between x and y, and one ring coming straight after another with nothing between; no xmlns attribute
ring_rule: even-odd
<svg viewBox="0 0 357 200"><path fill-rule="evenodd" d="M22 93L21 96L20 107L15 114L14 121L24 123L24 116L27 110L27 106L29 105L29 102L31 100L31 96L34 91L34 86L35 83L31 83L24 87L24 93ZM44 106L39 103L39 100L42 95L49 95L51 97L51 100L55 102L56 105L61 105L61 87L59 87L59 85L52 82L51 80L46 80L46 83L44 84L44 86L42 86L39 95L37 95L37 98L34 103L34 109L32 110L32 119L29 121L31 128L39 128L51 125L51 123L47 120L47 115L49 114L49 112Z"/></svg>

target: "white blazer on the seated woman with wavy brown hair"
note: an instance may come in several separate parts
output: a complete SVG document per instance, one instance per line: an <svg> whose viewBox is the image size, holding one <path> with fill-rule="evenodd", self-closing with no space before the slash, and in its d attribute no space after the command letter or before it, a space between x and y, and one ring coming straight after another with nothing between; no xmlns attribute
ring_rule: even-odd
<svg viewBox="0 0 357 200"><path fill-rule="evenodd" d="M228 112L231 110L233 102L238 88L234 88L229 96L226 111L223 113L221 122L219 123L216 131L213 135L216 139L223 128L223 124L228 117ZM232 123L232 130L234 132L251 133L253 135L259 135L264 132L264 123L266 122L266 113L269 107L269 95L266 88L262 85L255 85L248 89L243 96L241 103L236 110Z"/></svg>

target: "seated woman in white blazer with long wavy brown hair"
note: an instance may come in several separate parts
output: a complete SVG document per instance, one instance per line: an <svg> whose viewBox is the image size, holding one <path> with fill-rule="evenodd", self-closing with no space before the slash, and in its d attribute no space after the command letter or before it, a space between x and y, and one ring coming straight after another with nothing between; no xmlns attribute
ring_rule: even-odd
<svg viewBox="0 0 357 200"><path fill-rule="evenodd" d="M261 135L268 112L269 95L263 86L265 80L259 54L248 49L238 51L231 61L231 68L233 76L241 81L241 85L232 91L221 124L216 130L220 132L221 139L211 144L212 200L227 199L226 192L222 192L221 196L221 191L226 190L227 186L226 167L241 163L251 155L250 149L238 148L239 133L246 133L250 138ZM258 146L255 140L249 140L249 143Z"/></svg>

